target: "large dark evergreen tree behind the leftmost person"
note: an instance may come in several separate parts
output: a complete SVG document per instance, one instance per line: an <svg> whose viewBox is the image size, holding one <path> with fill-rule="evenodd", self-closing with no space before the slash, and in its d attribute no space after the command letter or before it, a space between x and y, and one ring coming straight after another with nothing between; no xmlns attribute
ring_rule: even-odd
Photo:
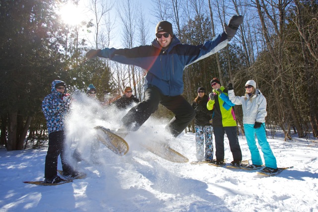
<svg viewBox="0 0 318 212"><path fill-rule="evenodd" d="M22 149L34 113L55 78L63 79L63 43L55 0L0 0L0 113L7 150ZM1 131L1 134L5 133Z"/></svg>

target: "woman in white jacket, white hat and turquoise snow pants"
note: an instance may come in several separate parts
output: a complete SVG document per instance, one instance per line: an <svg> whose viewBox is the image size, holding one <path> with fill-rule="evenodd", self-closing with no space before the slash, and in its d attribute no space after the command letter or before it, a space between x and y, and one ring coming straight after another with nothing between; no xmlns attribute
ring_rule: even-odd
<svg viewBox="0 0 318 212"><path fill-rule="evenodd" d="M266 139L265 131L265 117L267 115L266 99L259 89L256 89L256 82L254 80L246 82L245 91L244 96L235 96L233 85L229 83L228 95L231 102L236 105L242 105L243 109L245 136L251 151L253 163L247 166L247 168L257 169L263 164L256 146L256 134L258 144L261 146L261 150L264 154L265 167L262 169L262 172L275 173L278 171L276 158Z"/></svg>

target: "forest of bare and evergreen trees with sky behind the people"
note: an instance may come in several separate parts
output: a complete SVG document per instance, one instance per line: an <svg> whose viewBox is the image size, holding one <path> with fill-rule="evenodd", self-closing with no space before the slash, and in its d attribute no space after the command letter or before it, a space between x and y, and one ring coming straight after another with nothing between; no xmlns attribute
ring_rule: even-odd
<svg viewBox="0 0 318 212"><path fill-rule="evenodd" d="M0 0L1 145L17 150L25 141L47 140L41 103L54 79L65 81L72 94L86 92L92 83L105 104L121 96L125 86L142 100L143 70L86 60L87 50L150 45L160 20L173 23L182 43L199 45L221 33L234 14L243 15L244 23L229 45L185 69L185 98L192 102L200 86L211 92L213 77L225 87L232 82L237 95L244 95L245 82L254 79L267 99L272 136L280 128L286 141L291 134L318 137L318 0L141 2ZM242 109L235 110L243 126ZM172 114L160 107L154 116Z"/></svg>

